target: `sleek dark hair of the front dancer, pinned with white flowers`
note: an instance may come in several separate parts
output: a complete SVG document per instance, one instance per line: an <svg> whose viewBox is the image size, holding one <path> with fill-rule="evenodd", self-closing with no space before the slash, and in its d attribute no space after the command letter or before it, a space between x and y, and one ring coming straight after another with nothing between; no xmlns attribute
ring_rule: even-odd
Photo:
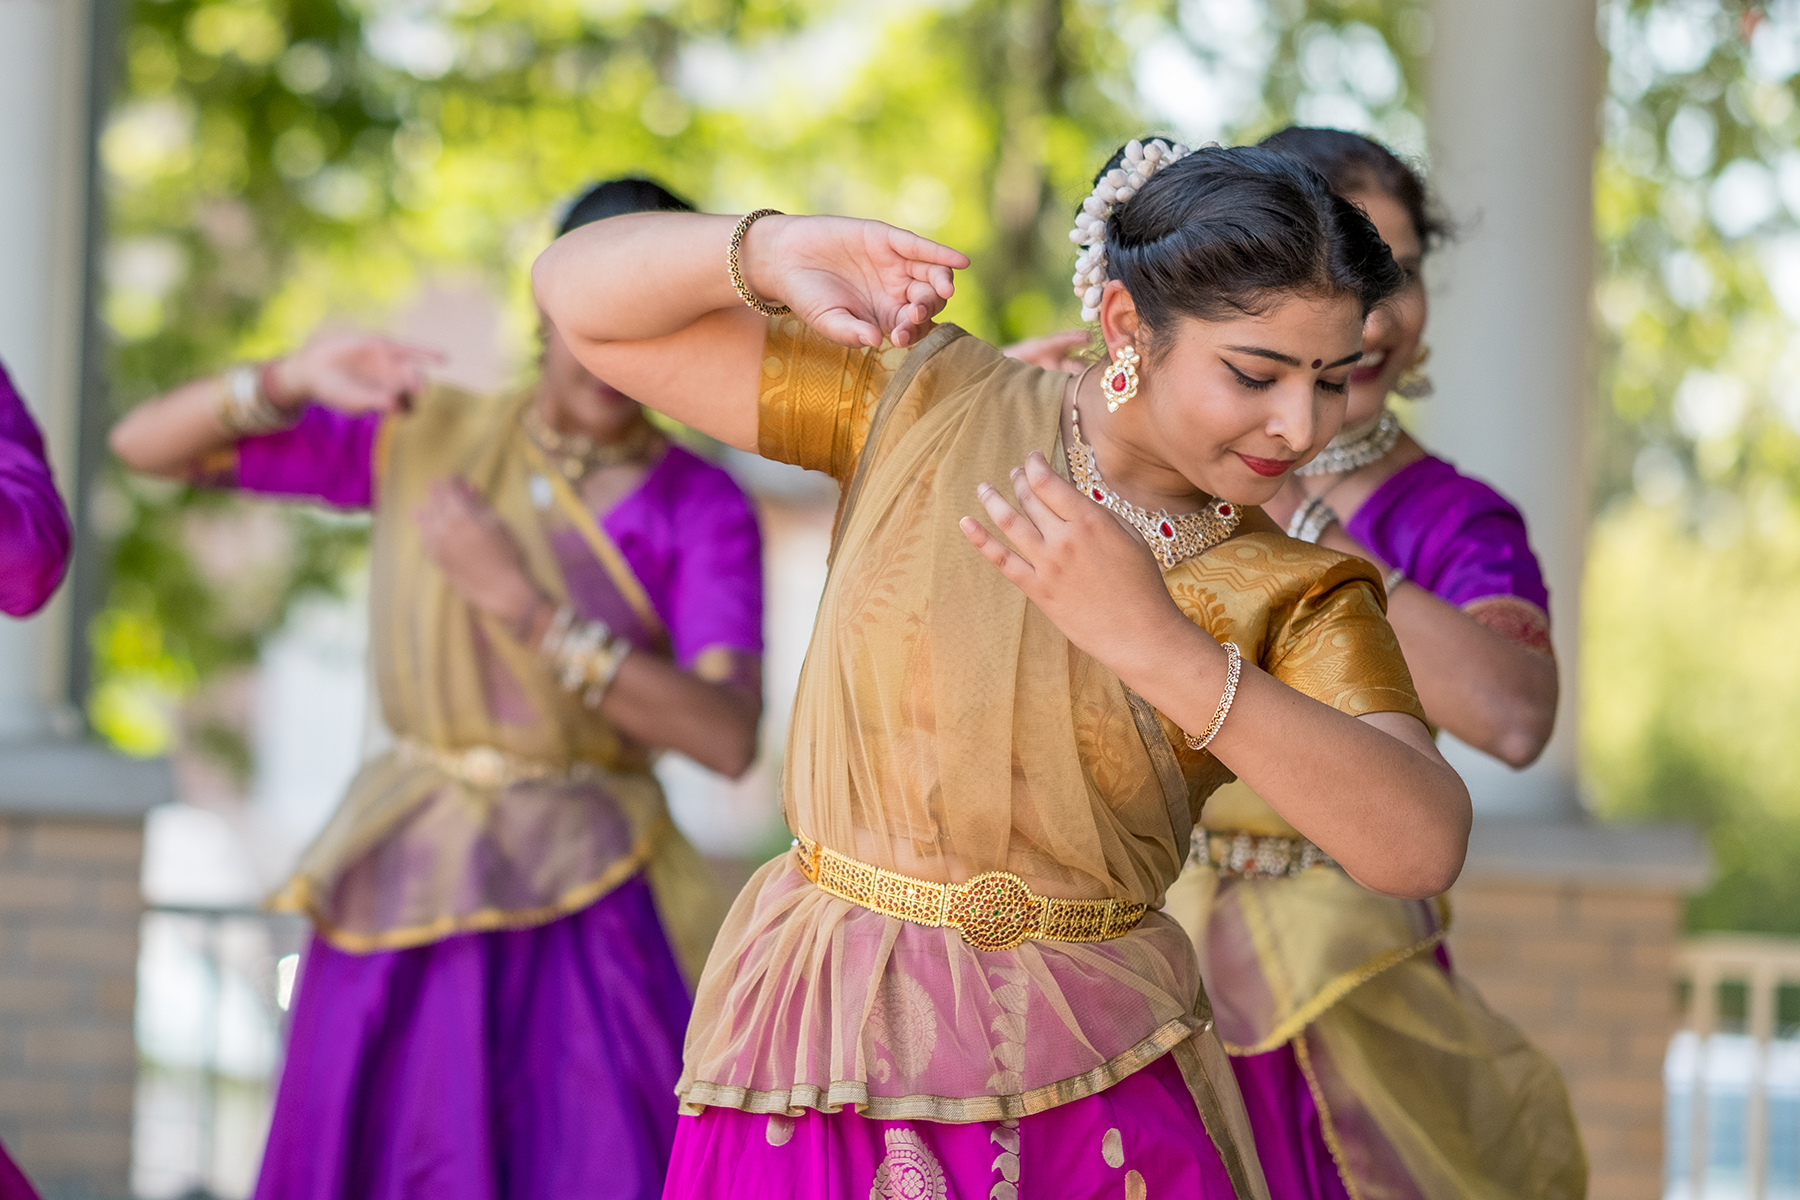
<svg viewBox="0 0 1800 1200"><path fill-rule="evenodd" d="M1152 335L1175 317L1260 315L1294 293L1352 295L1368 315L1404 284L1361 209L1298 158L1255 146L1197 149L1150 176L1107 219L1107 275Z"/></svg>

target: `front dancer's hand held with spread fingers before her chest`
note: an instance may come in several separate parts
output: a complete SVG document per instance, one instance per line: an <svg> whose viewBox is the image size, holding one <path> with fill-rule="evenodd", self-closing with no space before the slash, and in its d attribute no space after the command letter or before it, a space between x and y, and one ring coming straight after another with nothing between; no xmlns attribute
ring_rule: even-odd
<svg viewBox="0 0 1800 1200"><path fill-rule="evenodd" d="M1012 489L1019 509L988 484L977 491L1013 549L972 516L959 522L963 536L1071 642L1125 675L1127 662L1156 653L1161 631L1195 631L1170 599L1150 547L1071 488L1040 452L1013 468Z"/></svg>

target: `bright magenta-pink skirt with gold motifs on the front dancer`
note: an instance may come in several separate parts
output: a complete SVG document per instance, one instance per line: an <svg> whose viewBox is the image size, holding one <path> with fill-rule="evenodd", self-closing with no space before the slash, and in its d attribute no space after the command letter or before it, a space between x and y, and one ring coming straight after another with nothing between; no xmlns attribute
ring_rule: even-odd
<svg viewBox="0 0 1800 1200"><path fill-rule="evenodd" d="M871 1121L707 1108L680 1117L662 1200L1229 1200L1231 1177L1168 1054L1019 1121Z"/></svg>

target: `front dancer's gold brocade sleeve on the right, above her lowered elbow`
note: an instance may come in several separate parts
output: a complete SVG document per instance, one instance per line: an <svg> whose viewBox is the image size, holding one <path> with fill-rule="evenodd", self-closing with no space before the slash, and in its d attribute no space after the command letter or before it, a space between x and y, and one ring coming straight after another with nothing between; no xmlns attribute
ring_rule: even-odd
<svg viewBox="0 0 1800 1200"><path fill-rule="evenodd" d="M1328 567L1274 631L1269 673L1339 712L1406 712L1426 720L1381 583L1359 558Z"/></svg>

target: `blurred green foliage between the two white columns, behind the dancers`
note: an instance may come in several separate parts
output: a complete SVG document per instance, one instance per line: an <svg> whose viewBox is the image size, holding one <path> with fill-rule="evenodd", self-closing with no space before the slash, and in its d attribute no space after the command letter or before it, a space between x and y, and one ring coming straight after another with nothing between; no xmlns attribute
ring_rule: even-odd
<svg viewBox="0 0 1800 1200"><path fill-rule="evenodd" d="M133 0L101 146L115 403L277 354L326 318L380 324L445 272L509 297L524 360L524 268L554 207L621 173L720 210L891 219L976 259L950 320L995 338L1069 326L1069 216L1107 153L1148 128L1260 133L1307 88L1417 128L1417 61L1382 41L1417 11ZM1134 74L1157 54L1179 59L1177 86L1147 106ZM1183 63L1224 58L1242 95L1183 90ZM173 703L252 657L295 596L337 587L365 538L122 475L101 513L113 583L90 716L137 752L166 748Z"/></svg>

